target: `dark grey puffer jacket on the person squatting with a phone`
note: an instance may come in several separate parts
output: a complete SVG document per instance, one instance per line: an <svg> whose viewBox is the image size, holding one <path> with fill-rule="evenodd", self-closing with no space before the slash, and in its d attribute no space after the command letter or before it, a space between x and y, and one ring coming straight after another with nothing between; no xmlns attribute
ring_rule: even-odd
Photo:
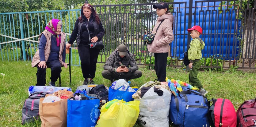
<svg viewBox="0 0 256 127"><path fill-rule="evenodd" d="M110 72L116 72L116 69L119 66L121 66L119 62L125 65L128 68L129 72L134 72L139 69L133 54L129 52L129 50L127 50L127 55L124 58L121 58L119 56L117 49L113 51L109 56L108 60L104 65L104 70L109 70Z"/></svg>

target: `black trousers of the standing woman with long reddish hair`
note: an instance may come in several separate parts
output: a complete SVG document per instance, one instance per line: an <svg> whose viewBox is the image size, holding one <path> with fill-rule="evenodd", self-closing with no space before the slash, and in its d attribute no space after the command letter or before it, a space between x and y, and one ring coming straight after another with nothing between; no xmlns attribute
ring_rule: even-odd
<svg viewBox="0 0 256 127"><path fill-rule="evenodd" d="M95 77L96 64L100 49L90 48L88 44L78 45L78 54L81 60L81 69L85 79Z"/></svg>

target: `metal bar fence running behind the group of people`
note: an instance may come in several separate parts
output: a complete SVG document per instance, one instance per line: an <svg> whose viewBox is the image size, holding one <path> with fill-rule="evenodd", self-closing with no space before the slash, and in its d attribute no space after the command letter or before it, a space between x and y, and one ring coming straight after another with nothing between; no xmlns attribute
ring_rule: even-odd
<svg viewBox="0 0 256 127"><path fill-rule="evenodd" d="M255 69L255 3L253 8L251 2L240 0L169 3L174 16L174 40L170 43L167 66L183 67L182 52L191 40L186 29L200 25L203 28L201 38L205 42L201 67L218 69L234 65ZM106 33L103 37L105 48L100 52L98 63L105 63L119 44L126 44L139 65L154 64L154 55L143 43L143 37L152 31L157 20L153 5L94 5ZM0 13L0 60L31 60L38 49L38 35L52 18L62 20L67 42L79 16L80 9ZM76 44L71 48L71 65L80 65Z"/></svg>

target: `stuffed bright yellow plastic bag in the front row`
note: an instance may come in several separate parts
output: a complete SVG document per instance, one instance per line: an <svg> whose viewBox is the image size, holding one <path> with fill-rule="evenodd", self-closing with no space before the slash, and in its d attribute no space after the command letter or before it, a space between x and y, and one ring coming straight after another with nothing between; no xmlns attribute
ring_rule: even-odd
<svg viewBox="0 0 256 127"><path fill-rule="evenodd" d="M114 99L101 107L95 127L133 127L139 116L139 101Z"/></svg>

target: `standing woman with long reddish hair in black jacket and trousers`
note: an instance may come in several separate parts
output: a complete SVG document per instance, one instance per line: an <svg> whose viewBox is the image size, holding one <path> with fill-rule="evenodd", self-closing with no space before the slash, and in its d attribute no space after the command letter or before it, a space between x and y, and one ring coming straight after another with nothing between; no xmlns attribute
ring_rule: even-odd
<svg viewBox="0 0 256 127"><path fill-rule="evenodd" d="M91 40L89 39L89 34ZM76 40L81 60L81 69L85 78L83 85L94 84L93 78L95 77L96 63L100 53L100 49L90 48L90 41L94 43L101 40L104 34L105 30L93 6L84 4L81 7L81 16L76 20L75 28L68 44L66 44L66 48L69 49Z"/></svg>

